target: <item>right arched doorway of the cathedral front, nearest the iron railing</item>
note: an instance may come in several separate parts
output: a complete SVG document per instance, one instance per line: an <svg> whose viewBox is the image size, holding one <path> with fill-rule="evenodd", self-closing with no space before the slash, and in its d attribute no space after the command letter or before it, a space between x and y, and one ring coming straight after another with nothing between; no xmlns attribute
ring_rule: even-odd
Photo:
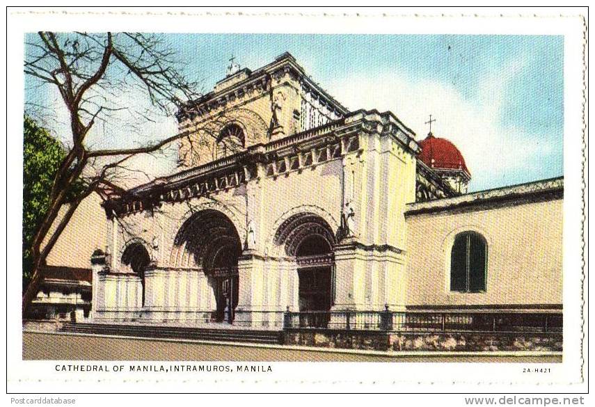
<svg viewBox="0 0 595 407"><path fill-rule="evenodd" d="M331 227L316 214L296 214L280 226L275 243L296 259L300 324L326 327L335 291L336 241Z"/></svg>

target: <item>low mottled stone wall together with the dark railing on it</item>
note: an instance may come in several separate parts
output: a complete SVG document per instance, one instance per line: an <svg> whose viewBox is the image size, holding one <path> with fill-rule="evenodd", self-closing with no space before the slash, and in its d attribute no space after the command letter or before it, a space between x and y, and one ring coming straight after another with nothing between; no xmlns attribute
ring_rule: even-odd
<svg viewBox="0 0 595 407"><path fill-rule="evenodd" d="M376 351L562 351L562 312L285 312L285 344Z"/></svg>

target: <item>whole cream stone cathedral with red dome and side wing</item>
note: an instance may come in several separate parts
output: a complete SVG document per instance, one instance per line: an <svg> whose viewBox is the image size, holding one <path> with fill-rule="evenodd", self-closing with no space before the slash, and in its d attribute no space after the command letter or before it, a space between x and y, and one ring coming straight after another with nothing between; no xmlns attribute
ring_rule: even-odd
<svg viewBox="0 0 595 407"><path fill-rule="evenodd" d="M104 202L95 321L561 324L562 178L468 193L453 143L349 111L287 53L177 120L180 171Z"/></svg>

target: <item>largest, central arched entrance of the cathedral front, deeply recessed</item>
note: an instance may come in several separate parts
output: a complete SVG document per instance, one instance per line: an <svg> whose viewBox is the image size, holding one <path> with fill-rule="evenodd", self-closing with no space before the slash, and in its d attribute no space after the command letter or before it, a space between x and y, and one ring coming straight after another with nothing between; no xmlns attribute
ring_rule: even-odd
<svg viewBox="0 0 595 407"><path fill-rule="evenodd" d="M192 260L209 279L216 303L212 320L232 324L239 294L237 260L241 241L230 218L214 209L197 212L184 222L174 245L182 248L176 264Z"/></svg>

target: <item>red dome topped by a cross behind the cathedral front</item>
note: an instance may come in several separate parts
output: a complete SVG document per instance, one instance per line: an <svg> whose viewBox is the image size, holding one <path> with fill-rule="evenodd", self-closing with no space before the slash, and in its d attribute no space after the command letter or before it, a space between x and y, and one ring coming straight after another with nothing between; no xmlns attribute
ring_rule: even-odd
<svg viewBox="0 0 595 407"><path fill-rule="evenodd" d="M438 170L463 170L471 175L465 159L459 149L446 138L434 137L432 134L420 141L422 151L418 154L418 159L423 161L429 168Z"/></svg>

